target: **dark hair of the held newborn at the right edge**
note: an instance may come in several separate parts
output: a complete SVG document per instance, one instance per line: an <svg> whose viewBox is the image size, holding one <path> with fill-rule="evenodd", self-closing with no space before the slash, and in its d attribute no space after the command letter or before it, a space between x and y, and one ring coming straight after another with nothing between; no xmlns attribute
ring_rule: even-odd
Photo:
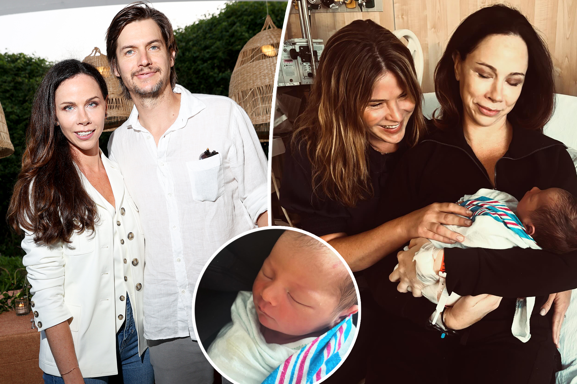
<svg viewBox="0 0 577 384"><path fill-rule="evenodd" d="M557 201L530 214L535 225L533 238L542 249L554 253L577 250L577 198L560 189Z"/></svg>

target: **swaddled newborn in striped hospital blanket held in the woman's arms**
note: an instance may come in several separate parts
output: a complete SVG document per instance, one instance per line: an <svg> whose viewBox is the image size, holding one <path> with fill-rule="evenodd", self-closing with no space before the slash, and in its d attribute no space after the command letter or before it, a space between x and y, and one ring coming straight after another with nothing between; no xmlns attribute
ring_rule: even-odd
<svg viewBox="0 0 577 384"><path fill-rule="evenodd" d="M481 189L474 195L465 195L458 204L473 212L473 224L470 227L447 225L447 228L462 234L464 241L445 244L431 240L414 258L417 261L417 277L423 283L431 284L422 289L422 293L430 301L439 304L437 313L445 306L452 306L460 298L455 292L448 295L443 273L440 273L440 277L434 272L437 249L506 249L516 246L545 249L554 253L577 249L577 199L563 189L540 190L534 187L519 202L507 193ZM518 299L511 331L523 342L531 337L529 318L534 304L535 298ZM433 322L439 323L436 318L433 318Z"/></svg>

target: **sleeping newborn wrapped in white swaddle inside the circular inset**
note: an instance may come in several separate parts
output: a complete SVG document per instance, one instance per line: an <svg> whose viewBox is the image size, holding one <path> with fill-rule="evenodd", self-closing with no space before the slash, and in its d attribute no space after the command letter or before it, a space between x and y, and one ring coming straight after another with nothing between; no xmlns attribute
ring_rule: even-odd
<svg viewBox="0 0 577 384"><path fill-rule="evenodd" d="M289 356L357 310L357 292L343 262L319 240L286 230L252 292L238 293L233 321L220 330L208 356L234 381L260 384Z"/></svg>

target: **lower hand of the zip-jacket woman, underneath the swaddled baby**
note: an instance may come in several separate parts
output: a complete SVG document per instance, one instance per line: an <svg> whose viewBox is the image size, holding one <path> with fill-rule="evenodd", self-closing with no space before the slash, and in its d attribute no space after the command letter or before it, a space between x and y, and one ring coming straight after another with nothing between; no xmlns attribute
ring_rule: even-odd
<svg viewBox="0 0 577 384"><path fill-rule="evenodd" d="M449 329L463 329L473 325L495 310L501 297L493 295L463 296L454 306L444 310L444 322Z"/></svg>

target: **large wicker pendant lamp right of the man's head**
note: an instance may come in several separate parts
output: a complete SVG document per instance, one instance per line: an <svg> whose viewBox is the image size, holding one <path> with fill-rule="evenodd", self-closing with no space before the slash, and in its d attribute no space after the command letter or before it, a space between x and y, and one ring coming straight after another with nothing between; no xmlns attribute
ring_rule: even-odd
<svg viewBox="0 0 577 384"><path fill-rule="evenodd" d="M238 54L228 87L228 97L246 111L262 139L268 139L270 129L272 88L281 33L282 29L276 28L267 14L263 29Z"/></svg>

